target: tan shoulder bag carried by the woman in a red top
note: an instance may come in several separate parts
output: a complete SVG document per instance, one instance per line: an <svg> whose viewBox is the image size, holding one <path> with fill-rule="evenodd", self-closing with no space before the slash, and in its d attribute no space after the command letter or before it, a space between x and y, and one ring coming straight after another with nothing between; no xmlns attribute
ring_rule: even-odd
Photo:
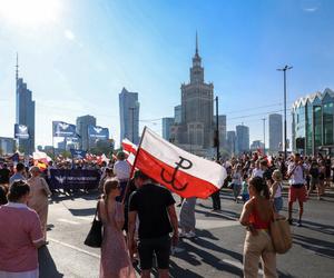
<svg viewBox="0 0 334 278"><path fill-rule="evenodd" d="M289 224L285 217L271 221L271 237L277 254L285 254L292 248L292 234Z"/></svg>

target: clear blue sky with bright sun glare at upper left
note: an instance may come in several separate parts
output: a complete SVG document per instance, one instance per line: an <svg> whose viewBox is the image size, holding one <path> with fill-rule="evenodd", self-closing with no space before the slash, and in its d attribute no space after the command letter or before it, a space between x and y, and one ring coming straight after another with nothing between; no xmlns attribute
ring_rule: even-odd
<svg viewBox="0 0 334 278"><path fill-rule="evenodd" d="M75 123L87 113L118 142L122 87L139 92L141 128L161 132L151 119L173 116L180 102L196 30L205 79L214 82L228 130L243 122L250 140L263 138L262 118L283 109L276 68L294 67L288 107L334 89L331 0L24 2L0 0L0 136L13 133L17 51L37 103L37 145L51 143L52 120Z"/></svg>

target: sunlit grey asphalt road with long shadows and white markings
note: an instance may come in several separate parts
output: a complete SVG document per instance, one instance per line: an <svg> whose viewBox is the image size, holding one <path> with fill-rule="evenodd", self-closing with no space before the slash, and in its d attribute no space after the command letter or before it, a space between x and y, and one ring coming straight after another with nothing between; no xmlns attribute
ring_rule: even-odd
<svg viewBox="0 0 334 278"><path fill-rule="evenodd" d="M171 257L171 277L242 277L245 229L237 219L243 205L234 202L228 190L220 197L222 212L210 211L210 199L197 201L197 238L179 242L180 250ZM84 245L96 201L96 195L52 199L49 245L39 250L41 278L98 277L99 249ZM176 201L179 201L178 197ZM283 214L286 214L286 198ZM333 214L332 192L323 201L313 197L305 203L303 227L292 227L293 248L277 256L279 277L334 277Z"/></svg>

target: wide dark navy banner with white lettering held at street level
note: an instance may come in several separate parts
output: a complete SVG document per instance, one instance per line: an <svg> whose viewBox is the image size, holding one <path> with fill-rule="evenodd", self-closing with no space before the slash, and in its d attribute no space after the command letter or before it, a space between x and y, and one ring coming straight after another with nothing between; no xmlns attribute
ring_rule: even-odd
<svg viewBox="0 0 334 278"><path fill-rule="evenodd" d="M95 189L99 185L98 170L50 169L50 189Z"/></svg>

